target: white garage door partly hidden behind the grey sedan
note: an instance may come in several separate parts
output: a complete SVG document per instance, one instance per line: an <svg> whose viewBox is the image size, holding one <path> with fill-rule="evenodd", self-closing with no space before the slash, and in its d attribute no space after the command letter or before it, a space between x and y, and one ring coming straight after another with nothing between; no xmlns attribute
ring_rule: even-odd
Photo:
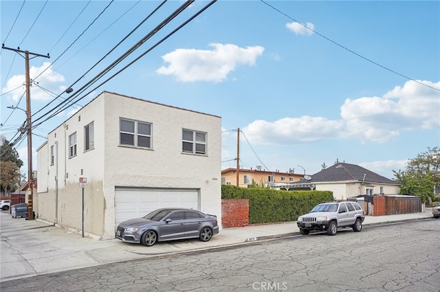
<svg viewBox="0 0 440 292"><path fill-rule="evenodd" d="M140 218L162 207L199 210L199 190L158 188L116 188L115 227L122 221Z"/></svg>

